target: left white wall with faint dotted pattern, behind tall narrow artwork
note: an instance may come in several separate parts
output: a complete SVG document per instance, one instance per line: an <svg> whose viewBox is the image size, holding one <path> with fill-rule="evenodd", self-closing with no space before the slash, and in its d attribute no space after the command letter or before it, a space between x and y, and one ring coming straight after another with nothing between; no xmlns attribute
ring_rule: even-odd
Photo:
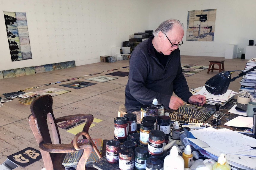
<svg viewBox="0 0 256 170"><path fill-rule="evenodd" d="M26 12L33 59L11 61L3 12ZM0 0L0 70L100 62L147 29L147 0Z"/></svg>

